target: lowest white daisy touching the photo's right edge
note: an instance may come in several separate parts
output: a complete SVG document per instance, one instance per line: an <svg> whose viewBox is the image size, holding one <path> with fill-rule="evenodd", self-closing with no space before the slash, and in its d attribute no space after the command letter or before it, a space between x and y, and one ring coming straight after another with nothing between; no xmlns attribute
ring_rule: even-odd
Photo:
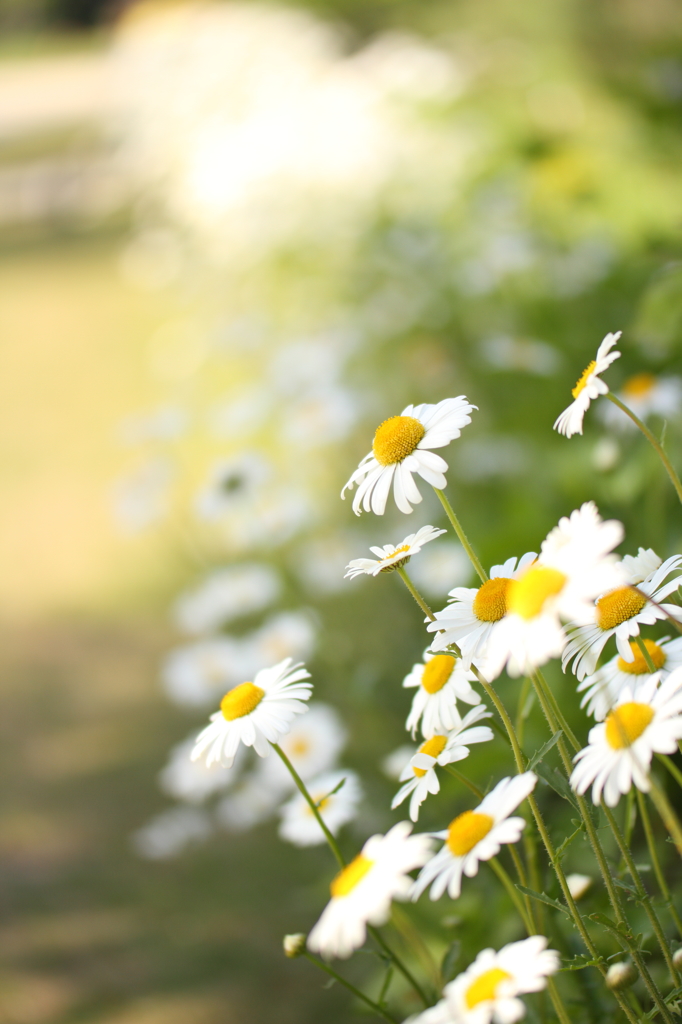
<svg viewBox="0 0 682 1024"><path fill-rule="evenodd" d="M621 794L634 784L649 791L653 754L675 754L682 739L682 670L658 685L657 673L645 682L626 687L604 722L590 730L588 745L576 757L570 784L583 794L592 785L592 799L615 807Z"/></svg>

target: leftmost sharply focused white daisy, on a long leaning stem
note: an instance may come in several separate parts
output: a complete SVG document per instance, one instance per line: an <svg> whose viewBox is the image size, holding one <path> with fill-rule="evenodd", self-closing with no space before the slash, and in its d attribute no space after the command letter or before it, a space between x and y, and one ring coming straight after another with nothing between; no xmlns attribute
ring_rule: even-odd
<svg viewBox="0 0 682 1024"><path fill-rule="evenodd" d="M302 664L292 665L290 657L271 669L261 669L253 682L240 683L225 693L220 711L211 715L211 724L197 737L193 761L206 758L231 768L240 743L253 746L266 758L270 743L289 732L292 719L307 711L303 703L310 696L311 683Z"/></svg>

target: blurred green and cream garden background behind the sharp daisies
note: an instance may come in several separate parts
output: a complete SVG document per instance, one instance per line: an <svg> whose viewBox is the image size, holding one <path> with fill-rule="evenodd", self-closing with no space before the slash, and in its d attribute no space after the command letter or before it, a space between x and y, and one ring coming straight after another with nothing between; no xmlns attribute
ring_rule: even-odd
<svg viewBox="0 0 682 1024"><path fill-rule="evenodd" d="M246 820L248 788L240 816L159 772L236 666L292 652L363 778L348 849L397 819L381 765L425 636L395 577L343 567L441 516L426 496L356 520L338 495L410 401L479 407L447 456L485 563L588 498L627 550L680 550L638 436L598 409L584 438L551 428L622 329L609 383L637 401L673 378L680 455L682 12L0 0L0 29L2 1019L345 1021L281 952L323 905L326 851L282 843L267 801ZM413 565L440 606L470 575L452 541L431 549ZM245 564L269 591L238 586L216 669L178 595ZM444 798L447 820L466 806ZM515 936L482 891L457 905L464 964L495 900ZM444 903L414 920L459 927Z"/></svg>

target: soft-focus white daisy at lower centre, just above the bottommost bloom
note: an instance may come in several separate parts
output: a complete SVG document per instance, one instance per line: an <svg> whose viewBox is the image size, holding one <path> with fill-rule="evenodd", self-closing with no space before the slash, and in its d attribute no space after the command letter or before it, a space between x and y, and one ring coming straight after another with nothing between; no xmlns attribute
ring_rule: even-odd
<svg viewBox="0 0 682 1024"><path fill-rule="evenodd" d="M408 899L409 871L431 853L428 836L411 836L409 821L398 821L385 836L372 836L354 860L331 885L332 899L308 936L308 949L323 956L349 956L365 942L367 925L383 925L391 900Z"/></svg>

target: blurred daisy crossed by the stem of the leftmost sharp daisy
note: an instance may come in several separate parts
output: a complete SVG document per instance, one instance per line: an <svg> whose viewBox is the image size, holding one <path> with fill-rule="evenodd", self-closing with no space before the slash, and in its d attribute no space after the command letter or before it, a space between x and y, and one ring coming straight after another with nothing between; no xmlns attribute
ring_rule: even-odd
<svg viewBox="0 0 682 1024"><path fill-rule="evenodd" d="M337 790L341 782L343 785ZM359 779L355 772L347 768L318 775L308 782L308 793L332 836L336 836L342 825L354 818L363 799ZM281 808L280 815L280 836L294 846L317 846L327 842L308 802L300 793Z"/></svg>

